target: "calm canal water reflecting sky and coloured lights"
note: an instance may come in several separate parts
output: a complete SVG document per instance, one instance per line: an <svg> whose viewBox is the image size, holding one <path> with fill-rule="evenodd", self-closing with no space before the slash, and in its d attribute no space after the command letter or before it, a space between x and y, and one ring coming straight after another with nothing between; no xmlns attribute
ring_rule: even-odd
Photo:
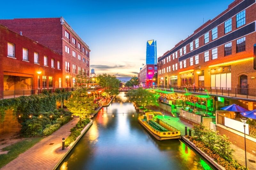
<svg viewBox="0 0 256 170"><path fill-rule="evenodd" d="M121 92L113 103L93 117L91 128L64 159L60 169L214 169L181 140L156 140L137 118L133 104Z"/></svg>

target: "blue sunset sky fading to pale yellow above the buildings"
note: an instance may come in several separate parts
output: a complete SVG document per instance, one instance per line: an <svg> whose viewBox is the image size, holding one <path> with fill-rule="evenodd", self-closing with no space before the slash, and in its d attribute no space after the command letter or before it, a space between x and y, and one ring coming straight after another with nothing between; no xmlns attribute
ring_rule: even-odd
<svg viewBox="0 0 256 170"><path fill-rule="evenodd" d="M98 73L133 76L145 64L146 42L157 41L157 57L233 0L4 1L1 19L64 17L89 45Z"/></svg>

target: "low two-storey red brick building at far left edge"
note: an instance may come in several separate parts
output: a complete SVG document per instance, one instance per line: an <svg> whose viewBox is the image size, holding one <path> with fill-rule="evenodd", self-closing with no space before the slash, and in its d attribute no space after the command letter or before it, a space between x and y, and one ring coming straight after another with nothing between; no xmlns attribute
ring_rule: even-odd
<svg viewBox="0 0 256 170"><path fill-rule="evenodd" d="M61 54L3 25L0 25L0 46L0 91L4 91L0 98L13 95L14 90L23 93L24 90L61 87ZM37 74L38 70L42 73Z"/></svg>

